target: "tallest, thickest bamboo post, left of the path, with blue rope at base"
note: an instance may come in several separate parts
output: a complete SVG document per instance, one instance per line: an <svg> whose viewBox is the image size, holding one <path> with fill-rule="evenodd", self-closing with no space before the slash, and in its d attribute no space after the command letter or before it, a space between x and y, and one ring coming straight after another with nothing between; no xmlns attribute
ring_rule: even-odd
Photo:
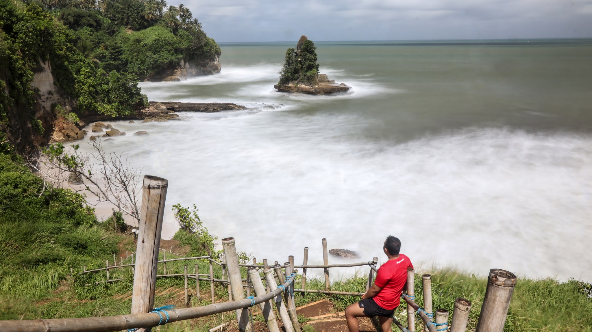
<svg viewBox="0 0 592 332"><path fill-rule="evenodd" d="M136 247L136 269L131 296L131 313L149 313L154 308L158 252L162 219L165 214L166 190L169 181L152 175L145 175L142 188L142 223ZM139 328L138 332L150 331Z"/></svg>

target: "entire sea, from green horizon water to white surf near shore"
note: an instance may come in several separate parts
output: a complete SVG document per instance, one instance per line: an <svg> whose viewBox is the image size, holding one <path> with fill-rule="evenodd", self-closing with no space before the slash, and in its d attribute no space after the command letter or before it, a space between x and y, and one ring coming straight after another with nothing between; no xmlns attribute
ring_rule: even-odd
<svg viewBox="0 0 592 332"><path fill-rule="evenodd" d="M300 263L308 246L319 263L323 237L384 261L394 235L424 268L592 281L591 40L316 45L349 92L276 92L291 43L222 44L220 74L140 84L249 108L111 122L128 135L104 148L169 180L163 238L171 206L195 203L259 261Z"/></svg>

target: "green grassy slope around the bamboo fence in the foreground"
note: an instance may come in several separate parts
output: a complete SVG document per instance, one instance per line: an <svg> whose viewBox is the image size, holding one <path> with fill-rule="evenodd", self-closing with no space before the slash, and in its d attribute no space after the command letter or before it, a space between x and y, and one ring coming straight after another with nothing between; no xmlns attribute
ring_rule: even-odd
<svg viewBox="0 0 592 332"><path fill-rule="evenodd" d="M19 158L0 154L0 320L32 318L89 317L126 314L130 310L133 276L131 269L112 271L111 278L123 278L113 284L85 287L105 280L105 272L70 276L70 268L78 272L105 265L106 259L119 250L133 250L130 236L108 231L85 207L82 197L69 191L46 190ZM189 247L195 243L185 243ZM189 253L202 248L189 248ZM195 251L197 252L197 251ZM162 256L162 253L161 253ZM161 257L162 258L162 257ZM125 263L125 262L124 262ZM169 274L182 273L184 262L169 262ZM162 266L159 267L162 273ZM209 265L200 262L200 272L208 273ZM194 273L194 266L188 266ZM246 276L245 271L243 274ZM221 269L214 265L215 278ZM416 280L416 299L423 302L420 274ZM297 287L299 287L297 282ZM347 279L332 285L338 291L363 291L365 278ZM432 288L435 308L452 311L456 297L471 300L473 309L469 330L474 330L487 280L452 270L433 272ZM195 282L190 281L194 288ZM592 298L587 297L577 281L558 283L551 279L520 279L514 291L505 331L592 331ZM183 278L159 278L157 289L184 287ZM209 282L200 283L202 300L191 299L192 305L210 303ZM589 285L588 285L589 287ZM308 281L307 288L324 288L323 281ZM216 298L227 298L225 287L217 285ZM342 311L358 300L355 297L323 294L295 295L297 305L329 298ZM155 305L176 304L183 307L182 295L163 294ZM397 316L405 321L405 305ZM256 314L253 319L262 318ZM201 320L168 324L160 331L205 331L227 321L234 313L218 314ZM419 326L418 326L419 328Z"/></svg>

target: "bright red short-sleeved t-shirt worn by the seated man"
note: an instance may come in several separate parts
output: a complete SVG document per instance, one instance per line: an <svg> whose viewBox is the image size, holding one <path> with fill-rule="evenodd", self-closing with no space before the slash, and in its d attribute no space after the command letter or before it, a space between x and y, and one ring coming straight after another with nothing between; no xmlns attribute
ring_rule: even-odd
<svg viewBox="0 0 592 332"><path fill-rule="evenodd" d="M407 282L407 268L413 268L411 260L400 254L399 258L391 259L378 269L374 284L382 288L374 297L374 301L386 310L397 308L401 300L403 287Z"/></svg>

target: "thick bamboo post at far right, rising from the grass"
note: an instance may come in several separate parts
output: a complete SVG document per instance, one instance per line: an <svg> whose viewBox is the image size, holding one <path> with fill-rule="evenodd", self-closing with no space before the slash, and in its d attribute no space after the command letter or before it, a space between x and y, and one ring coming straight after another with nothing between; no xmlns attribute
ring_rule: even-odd
<svg viewBox="0 0 592 332"><path fill-rule="evenodd" d="M487 279L487 289L477 323L477 332L501 332L504 330L517 278L509 271L491 269Z"/></svg>

